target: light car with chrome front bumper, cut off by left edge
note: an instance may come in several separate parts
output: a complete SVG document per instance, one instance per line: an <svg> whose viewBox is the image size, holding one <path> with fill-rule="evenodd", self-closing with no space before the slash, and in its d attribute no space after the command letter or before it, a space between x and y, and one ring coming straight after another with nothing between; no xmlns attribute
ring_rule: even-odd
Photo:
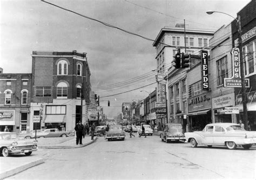
<svg viewBox="0 0 256 180"><path fill-rule="evenodd" d="M0 149L2 156L7 157L19 153L29 156L38 148L35 140L20 139L17 133L0 132Z"/></svg>

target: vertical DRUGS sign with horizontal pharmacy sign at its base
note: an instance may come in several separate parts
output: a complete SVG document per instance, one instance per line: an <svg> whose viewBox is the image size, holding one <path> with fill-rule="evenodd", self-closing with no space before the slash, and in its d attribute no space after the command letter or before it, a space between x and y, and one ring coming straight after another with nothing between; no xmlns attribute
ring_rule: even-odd
<svg viewBox="0 0 256 180"><path fill-rule="evenodd" d="M232 77L224 78L224 87L242 87L240 74L240 53L237 47L231 51L232 54ZM250 87L249 79L245 79L245 87Z"/></svg>

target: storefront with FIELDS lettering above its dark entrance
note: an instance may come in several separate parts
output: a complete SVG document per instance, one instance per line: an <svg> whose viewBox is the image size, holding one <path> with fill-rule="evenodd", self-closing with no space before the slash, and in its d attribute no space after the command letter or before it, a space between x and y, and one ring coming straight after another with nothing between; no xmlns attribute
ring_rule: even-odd
<svg viewBox="0 0 256 180"><path fill-rule="evenodd" d="M203 130L206 124L211 123L211 94L188 98L187 124L191 131Z"/></svg>

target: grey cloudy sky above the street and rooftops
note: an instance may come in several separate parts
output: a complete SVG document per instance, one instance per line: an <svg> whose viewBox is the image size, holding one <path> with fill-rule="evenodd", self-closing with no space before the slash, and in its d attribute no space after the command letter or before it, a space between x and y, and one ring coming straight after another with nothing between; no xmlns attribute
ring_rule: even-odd
<svg viewBox="0 0 256 180"><path fill-rule="evenodd" d="M250 0L47 2L154 40L161 28L174 27L184 19L187 28L217 30L233 19L220 13L207 15L206 11L236 17ZM4 73L31 73L32 51L86 52L92 91L102 97L100 105L107 116L113 117L121 111L122 102L142 100L148 94L140 90L152 92L156 87L147 86L155 82L151 70L156 69L156 50L151 40L89 18L39 0L1 1L0 67Z"/></svg>

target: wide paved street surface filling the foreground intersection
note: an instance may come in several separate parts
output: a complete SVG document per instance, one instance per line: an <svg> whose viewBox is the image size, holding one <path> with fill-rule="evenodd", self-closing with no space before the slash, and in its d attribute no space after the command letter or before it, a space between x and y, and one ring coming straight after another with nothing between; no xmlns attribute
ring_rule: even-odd
<svg viewBox="0 0 256 180"><path fill-rule="evenodd" d="M106 141L76 149L39 149L44 163L7 179L255 179L255 146L191 148L165 143L158 136Z"/></svg>

